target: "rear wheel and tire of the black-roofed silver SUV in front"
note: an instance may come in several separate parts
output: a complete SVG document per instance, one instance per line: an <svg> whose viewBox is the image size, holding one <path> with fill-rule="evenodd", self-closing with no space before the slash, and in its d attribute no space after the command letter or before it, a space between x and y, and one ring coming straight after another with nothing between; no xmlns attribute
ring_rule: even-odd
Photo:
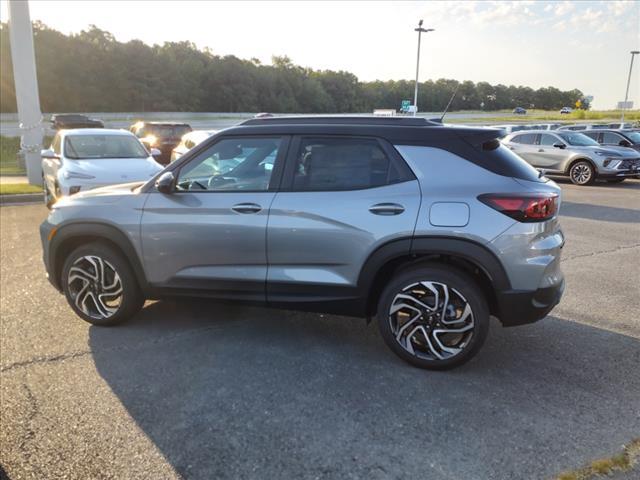
<svg viewBox="0 0 640 480"><path fill-rule="evenodd" d="M442 305L445 291L449 306ZM444 317L440 308L428 309L436 307L436 300L446 309ZM438 264L396 274L382 292L377 319L382 338L396 355L429 370L446 370L469 361L489 332L489 308L480 287L465 273ZM444 319L449 325L444 325Z"/></svg>

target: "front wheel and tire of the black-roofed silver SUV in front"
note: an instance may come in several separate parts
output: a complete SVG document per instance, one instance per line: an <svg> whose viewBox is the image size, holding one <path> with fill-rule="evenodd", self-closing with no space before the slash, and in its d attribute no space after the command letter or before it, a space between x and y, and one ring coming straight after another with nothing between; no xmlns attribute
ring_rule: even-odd
<svg viewBox="0 0 640 480"><path fill-rule="evenodd" d="M62 267L62 289L83 320L111 326L140 311L144 296L127 260L102 242L76 248Z"/></svg>

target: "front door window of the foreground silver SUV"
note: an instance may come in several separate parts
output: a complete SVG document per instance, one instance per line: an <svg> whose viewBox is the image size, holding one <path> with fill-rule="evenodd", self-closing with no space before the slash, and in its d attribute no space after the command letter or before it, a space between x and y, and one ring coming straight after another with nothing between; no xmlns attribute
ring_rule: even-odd
<svg viewBox="0 0 640 480"><path fill-rule="evenodd" d="M266 191L279 137L226 138L201 152L178 175L183 191Z"/></svg>

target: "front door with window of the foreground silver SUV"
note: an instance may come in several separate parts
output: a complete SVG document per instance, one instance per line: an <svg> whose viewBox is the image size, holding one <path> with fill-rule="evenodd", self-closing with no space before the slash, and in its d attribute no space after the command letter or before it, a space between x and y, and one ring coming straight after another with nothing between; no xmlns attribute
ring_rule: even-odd
<svg viewBox="0 0 640 480"><path fill-rule="evenodd" d="M265 300L266 227L288 139L222 137L150 193L142 249L155 287Z"/></svg>

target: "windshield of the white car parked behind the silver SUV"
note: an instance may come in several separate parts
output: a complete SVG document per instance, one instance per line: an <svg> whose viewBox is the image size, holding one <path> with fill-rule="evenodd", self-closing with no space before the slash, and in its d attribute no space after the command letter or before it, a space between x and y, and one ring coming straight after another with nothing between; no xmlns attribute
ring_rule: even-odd
<svg viewBox="0 0 640 480"><path fill-rule="evenodd" d="M65 139L67 158L147 158L140 142L129 135L69 135Z"/></svg>

